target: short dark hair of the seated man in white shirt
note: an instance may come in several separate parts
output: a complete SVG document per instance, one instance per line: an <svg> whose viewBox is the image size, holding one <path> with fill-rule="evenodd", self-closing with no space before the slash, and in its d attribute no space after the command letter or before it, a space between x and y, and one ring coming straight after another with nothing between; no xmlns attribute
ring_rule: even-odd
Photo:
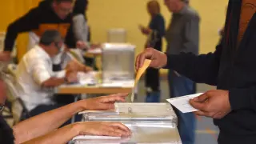
<svg viewBox="0 0 256 144"><path fill-rule="evenodd" d="M62 36L59 34L58 30L46 30L42 34L39 43L45 46L50 46L52 42L59 42L61 39Z"/></svg>

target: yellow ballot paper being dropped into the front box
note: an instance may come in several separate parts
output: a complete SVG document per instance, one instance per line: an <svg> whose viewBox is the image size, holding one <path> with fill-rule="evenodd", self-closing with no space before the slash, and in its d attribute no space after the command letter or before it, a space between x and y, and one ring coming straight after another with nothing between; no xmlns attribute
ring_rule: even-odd
<svg viewBox="0 0 256 144"><path fill-rule="evenodd" d="M145 70L150 66L150 62L151 60L150 59L146 59L143 63L143 66L141 68L138 69L138 72L136 74L136 78L135 78L135 81L134 81L134 88L135 86L137 86L137 83L139 81L139 79L142 77L142 74L145 72ZM133 89L133 92L130 96L130 101L131 102L134 102L134 89Z"/></svg>

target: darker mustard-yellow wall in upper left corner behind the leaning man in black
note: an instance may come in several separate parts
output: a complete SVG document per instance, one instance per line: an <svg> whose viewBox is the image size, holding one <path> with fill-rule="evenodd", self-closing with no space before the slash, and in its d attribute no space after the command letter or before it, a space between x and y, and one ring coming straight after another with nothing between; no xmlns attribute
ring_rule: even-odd
<svg viewBox="0 0 256 144"><path fill-rule="evenodd" d="M0 1L0 31L5 32L10 22L26 14L30 8L37 6L40 0L1 0ZM18 59L26 52L27 34L20 34L17 40Z"/></svg>

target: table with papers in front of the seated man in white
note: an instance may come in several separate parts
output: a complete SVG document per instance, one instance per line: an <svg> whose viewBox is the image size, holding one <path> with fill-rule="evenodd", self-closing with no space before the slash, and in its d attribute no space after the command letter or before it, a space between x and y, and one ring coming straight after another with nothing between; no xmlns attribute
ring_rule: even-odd
<svg viewBox="0 0 256 144"><path fill-rule="evenodd" d="M78 74L79 82L76 84L62 85L54 89L55 94L74 94L74 102L81 98L82 94L116 94L130 93L134 87L134 80L99 82L99 72ZM72 121L74 122L74 117Z"/></svg>

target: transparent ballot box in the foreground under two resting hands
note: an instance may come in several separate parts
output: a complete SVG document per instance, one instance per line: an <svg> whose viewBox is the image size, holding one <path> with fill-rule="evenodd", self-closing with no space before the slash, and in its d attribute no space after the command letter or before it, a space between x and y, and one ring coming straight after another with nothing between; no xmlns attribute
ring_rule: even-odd
<svg viewBox="0 0 256 144"><path fill-rule="evenodd" d="M89 143L153 143L181 144L177 130L177 117L168 103L118 103L115 110L88 111L84 121L122 122L130 128L129 138L79 136L75 144Z"/></svg>

